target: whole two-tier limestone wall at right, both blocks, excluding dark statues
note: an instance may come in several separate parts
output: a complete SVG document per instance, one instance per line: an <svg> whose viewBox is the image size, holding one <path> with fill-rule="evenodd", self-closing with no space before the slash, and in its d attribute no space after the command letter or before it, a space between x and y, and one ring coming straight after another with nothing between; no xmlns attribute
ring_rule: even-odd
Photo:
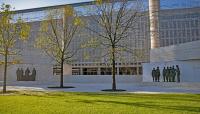
<svg viewBox="0 0 200 114"><path fill-rule="evenodd" d="M200 82L200 41L152 49L150 63L143 64L143 81L152 82L151 71L179 65L181 82ZM162 75L161 75L161 80Z"/></svg>

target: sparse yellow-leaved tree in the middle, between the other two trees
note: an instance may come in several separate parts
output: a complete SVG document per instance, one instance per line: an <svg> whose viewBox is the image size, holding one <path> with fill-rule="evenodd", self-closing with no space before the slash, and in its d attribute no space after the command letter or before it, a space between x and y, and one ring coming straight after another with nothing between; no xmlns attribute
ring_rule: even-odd
<svg viewBox="0 0 200 114"><path fill-rule="evenodd" d="M81 19L71 6L49 10L46 20L41 22L36 47L42 49L60 66L61 88L64 87L64 63L69 62L77 53L77 50L70 49L70 44L81 25Z"/></svg>

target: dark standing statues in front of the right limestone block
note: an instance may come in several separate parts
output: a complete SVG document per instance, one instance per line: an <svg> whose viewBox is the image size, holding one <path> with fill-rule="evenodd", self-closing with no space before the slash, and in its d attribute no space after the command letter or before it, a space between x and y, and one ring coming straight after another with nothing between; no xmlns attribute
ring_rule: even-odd
<svg viewBox="0 0 200 114"><path fill-rule="evenodd" d="M152 78L153 82L160 82L160 69L159 67L153 68L152 70ZM163 81L164 82L180 82L180 69L179 66L176 65L172 67L164 67L162 71Z"/></svg>

